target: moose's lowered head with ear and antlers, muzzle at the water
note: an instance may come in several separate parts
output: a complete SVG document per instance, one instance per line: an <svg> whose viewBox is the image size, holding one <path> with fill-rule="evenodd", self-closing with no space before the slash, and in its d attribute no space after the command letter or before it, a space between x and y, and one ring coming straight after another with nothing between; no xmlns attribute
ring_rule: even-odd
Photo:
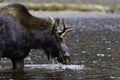
<svg viewBox="0 0 120 80"><path fill-rule="evenodd" d="M70 62L70 51L67 47L64 36L66 33L72 31L70 27L67 27L63 19L63 30L59 28L60 19L50 18L53 23L47 34L44 34L43 49L47 54L48 60L51 58L57 58L57 61L63 64Z"/></svg>

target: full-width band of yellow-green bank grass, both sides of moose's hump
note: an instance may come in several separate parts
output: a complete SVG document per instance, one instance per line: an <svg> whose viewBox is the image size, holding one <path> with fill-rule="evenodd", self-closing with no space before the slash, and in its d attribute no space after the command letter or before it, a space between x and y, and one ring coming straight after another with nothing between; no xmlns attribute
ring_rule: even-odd
<svg viewBox="0 0 120 80"><path fill-rule="evenodd" d="M0 3L0 7L8 3ZM33 11L83 11L83 12L116 12L120 13L120 5L102 6L91 4L61 4L61 3L22 3L29 10Z"/></svg>

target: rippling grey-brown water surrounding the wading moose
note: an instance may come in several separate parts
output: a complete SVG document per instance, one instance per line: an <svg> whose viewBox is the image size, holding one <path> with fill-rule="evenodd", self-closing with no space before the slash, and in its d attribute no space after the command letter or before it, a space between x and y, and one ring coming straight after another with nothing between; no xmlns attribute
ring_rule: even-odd
<svg viewBox="0 0 120 80"><path fill-rule="evenodd" d="M10 61L3 59L0 80L120 80L120 15L50 15L65 18L73 27L65 37L71 50L71 65L48 64L43 51L31 50L24 72L11 71Z"/></svg>

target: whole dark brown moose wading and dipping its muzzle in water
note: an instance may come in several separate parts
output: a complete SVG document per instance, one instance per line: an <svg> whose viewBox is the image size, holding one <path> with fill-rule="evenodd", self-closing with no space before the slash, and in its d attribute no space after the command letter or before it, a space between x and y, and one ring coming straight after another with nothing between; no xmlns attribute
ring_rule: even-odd
<svg viewBox="0 0 120 80"><path fill-rule="evenodd" d="M60 19L38 18L29 13L22 4L10 4L0 9L0 59L7 57L14 70L24 68L24 58L31 49L43 49L48 60L57 58L69 64L70 51L64 35L72 29L64 19L60 30Z"/></svg>

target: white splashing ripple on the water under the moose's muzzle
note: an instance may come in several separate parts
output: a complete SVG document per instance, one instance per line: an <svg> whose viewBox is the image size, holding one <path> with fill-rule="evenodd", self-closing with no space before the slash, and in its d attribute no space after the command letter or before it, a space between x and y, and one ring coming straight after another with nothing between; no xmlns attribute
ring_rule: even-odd
<svg viewBox="0 0 120 80"><path fill-rule="evenodd" d="M25 65L27 68L31 69L49 69L49 70L83 70L85 69L84 65L62 65L62 64L27 64Z"/></svg>

